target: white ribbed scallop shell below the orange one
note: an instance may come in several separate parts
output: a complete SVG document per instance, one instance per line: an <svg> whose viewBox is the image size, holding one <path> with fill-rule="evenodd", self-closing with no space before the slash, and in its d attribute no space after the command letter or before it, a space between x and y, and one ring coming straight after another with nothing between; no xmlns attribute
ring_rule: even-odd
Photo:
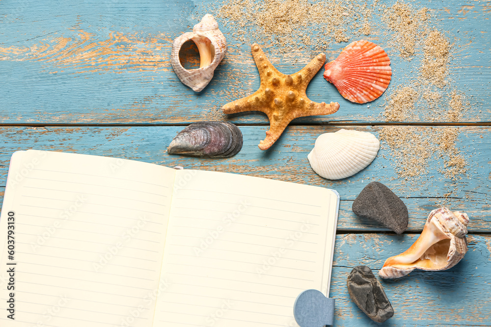
<svg viewBox="0 0 491 327"><path fill-rule="evenodd" d="M380 149L379 140L371 133L340 129L319 135L307 155L310 166L327 179L353 176L368 166Z"/></svg>

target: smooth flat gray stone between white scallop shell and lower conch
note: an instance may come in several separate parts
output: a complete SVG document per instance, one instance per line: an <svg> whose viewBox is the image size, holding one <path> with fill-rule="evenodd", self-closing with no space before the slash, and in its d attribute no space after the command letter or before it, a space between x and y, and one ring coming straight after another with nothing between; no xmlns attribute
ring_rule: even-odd
<svg viewBox="0 0 491 327"><path fill-rule="evenodd" d="M389 188L379 182L371 182L353 202L353 212L401 234L408 228L409 214L406 204Z"/></svg>

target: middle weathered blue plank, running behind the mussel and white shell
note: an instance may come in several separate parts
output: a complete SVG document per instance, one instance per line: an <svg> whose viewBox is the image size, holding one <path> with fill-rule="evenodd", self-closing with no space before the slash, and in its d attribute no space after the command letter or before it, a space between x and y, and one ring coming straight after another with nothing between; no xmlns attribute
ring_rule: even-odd
<svg viewBox="0 0 491 327"><path fill-rule="evenodd" d="M235 157L199 159L168 155L165 150L183 127L0 127L0 186L5 186L8 163L13 151L38 149L106 155L151 162L173 167L233 172L333 188L340 193L338 229L386 230L376 223L356 217L351 205L363 187L380 181L391 188L409 209L409 231L420 231L428 213L439 206L466 212L471 221L469 231L491 231L490 209L490 145L491 127L459 127L457 145L468 160L468 176L453 181L438 170L444 158L432 159L429 173L416 185L399 178L394 172L394 158L382 142L377 158L355 176L331 181L316 175L310 168L307 154L316 137L338 128L332 126L290 126L269 151L260 151L258 141L265 136L265 126L241 126L244 146ZM353 128L353 127L350 127ZM378 135L378 127L354 127ZM442 127L421 127L435 128ZM481 138L482 137L482 138ZM445 196L452 193L450 197Z"/></svg>

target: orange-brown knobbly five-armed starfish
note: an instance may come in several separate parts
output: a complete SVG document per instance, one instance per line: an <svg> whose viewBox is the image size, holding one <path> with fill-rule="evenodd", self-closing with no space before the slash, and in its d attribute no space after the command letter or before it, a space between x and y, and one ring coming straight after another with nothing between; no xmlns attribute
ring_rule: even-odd
<svg viewBox="0 0 491 327"><path fill-rule="evenodd" d="M251 49L261 78L259 90L246 98L225 104L222 109L226 114L262 111L268 116L270 130L266 132L264 141L259 142L259 149L269 149L295 118L329 115L339 109L338 102L317 103L310 101L305 94L308 83L326 61L324 53L318 54L299 72L285 75L274 68L258 44L254 43Z"/></svg>

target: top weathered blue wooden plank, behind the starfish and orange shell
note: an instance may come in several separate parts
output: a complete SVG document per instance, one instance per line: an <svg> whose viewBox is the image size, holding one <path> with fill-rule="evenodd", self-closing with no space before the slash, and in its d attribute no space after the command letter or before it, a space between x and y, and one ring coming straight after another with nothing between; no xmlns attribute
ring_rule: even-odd
<svg viewBox="0 0 491 327"><path fill-rule="evenodd" d="M394 1L385 2L377 8ZM410 3L415 8L423 6ZM431 9L432 26L444 31L452 43L451 83L441 94L446 97L456 90L466 96L461 122L489 122L489 5L486 1L452 0L445 2L444 9L437 1L427 1L424 6ZM226 102L252 93L259 85L249 45L232 36L237 31L225 25L226 19L218 21L230 49L203 92L196 94L184 86L170 66L172 40L189 31L197 18L208 11L216 13L218 8L217 1L191 0L76 4L50 0L28 5L0 1L0 123L166 125L231 119L242 124L267 124L266 117L257 112L227 117L220 110ZM413 84L421 53L411 62L399 56L390 41L393 32L381 23L377 8L368 39L390 54L394 74L389 89L368 108L342 98L321 71L307 94L313 101L338 101L340 110L329 116L297 119L294 124L384 121L387 97L397 86ZM323 49L327 60L334 59L346 44L330 43ZM274 48L266 50L284 73L296 72L317 52L313 47L287 55ZM448 99L440 104L442 112L449 109ZM420 116L413 115L408 121L428 121L423 117L427 112L424 102L416 111Z"/></svg>

